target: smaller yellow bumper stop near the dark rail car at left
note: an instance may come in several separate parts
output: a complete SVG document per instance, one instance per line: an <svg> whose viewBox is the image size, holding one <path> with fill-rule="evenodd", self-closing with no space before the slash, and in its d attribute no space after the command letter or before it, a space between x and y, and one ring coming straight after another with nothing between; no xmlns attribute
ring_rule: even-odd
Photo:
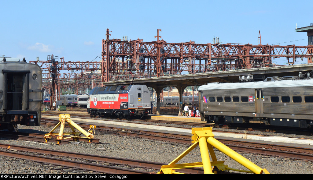
<svg viewBox="0 0 313 180"><path fill-rule="evenodd" d="M65 123L69 125L71 128L72 132L65 132L64 133L64 126ZM60 131L59 133L53 133L55 129L57 129L60 126ZM75 132L76 128L80 132ZM93 131L90 130L93 128ZM95 126L91 125L90 129L88 132L86 132L84 129L82 129L79 125L74 123L73 121L70 120L70 114L59 114L59 123L48 133L44 135L45 142L48 142L47 139L55 137L57 140L63 140L63 139L69 139L69 138L74 138L74 140L77 140L78 138L86 138L86 139L93 139L94 138L94 132L95 132ZM93 134L91 134L93 133ZM84 134L84 136L80 136L81 134ZM63 135L72 135L70 137L63 137ZM91 142L90 140L88 142ZM58 143L59 144L59 143Z"/></svg>

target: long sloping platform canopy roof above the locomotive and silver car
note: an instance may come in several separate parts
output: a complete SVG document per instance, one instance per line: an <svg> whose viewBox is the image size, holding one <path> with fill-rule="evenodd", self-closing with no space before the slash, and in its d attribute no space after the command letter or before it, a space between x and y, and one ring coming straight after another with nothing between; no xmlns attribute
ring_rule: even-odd
<svg viewBox="0 0 313 180"><path fill-rule="evenodd" d="M118 80L102 82L103 85L130 85L142 84L150 88L170 87L170 86L191 86L204 85L212 82L239 82L239 77L243 75L253 75L254 79L272 76L297 76L299 72L303 74L307 71L313 71L313 64L301 64L290 66L262 67L243 70L217 71L198 74L171 75L162 77L142 78L132 80Z"/></svg>

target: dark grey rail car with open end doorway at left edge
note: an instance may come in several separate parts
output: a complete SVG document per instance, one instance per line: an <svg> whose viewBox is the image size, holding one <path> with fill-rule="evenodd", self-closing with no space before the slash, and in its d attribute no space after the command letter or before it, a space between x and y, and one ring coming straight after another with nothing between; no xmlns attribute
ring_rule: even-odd
<svg viewBox="0 0 313 180"><path fill-rule="evenodd" d="M42 104L40 66L0 59L0 129L17 130L17 124L40 126Z"/></svg>

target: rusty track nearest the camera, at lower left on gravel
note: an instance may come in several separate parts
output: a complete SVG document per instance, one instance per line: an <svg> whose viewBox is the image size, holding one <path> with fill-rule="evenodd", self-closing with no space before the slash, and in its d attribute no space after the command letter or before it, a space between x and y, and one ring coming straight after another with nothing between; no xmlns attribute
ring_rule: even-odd
<svg viewBox="0 0 313 180"><path fill-rule="evenodd" d="M118 174L151 174L144 170L135 170L135 168L158 170L161 164L153 162L136 161L121 158L111 158L105 156L96 156L91 154L71 153L41 148L30 148L9 144L0 144L0 147L6 150L0 150L0 155L18 159L31 160L40 163L49 163L64 168L79 168L95 173L118 173ZM16 151L23 151L16 152ZM50 156L50 157L48 157ZM58 158L56 158L58 157ZM61 157L61 158L60 158ZM98 163L94 163L98 162ZM143 165L142 165L143 164ZM161 165L161 166L159 166ZM126 167L126 168L123 168ZM193 171L197 172L197 171Z"/></svg>

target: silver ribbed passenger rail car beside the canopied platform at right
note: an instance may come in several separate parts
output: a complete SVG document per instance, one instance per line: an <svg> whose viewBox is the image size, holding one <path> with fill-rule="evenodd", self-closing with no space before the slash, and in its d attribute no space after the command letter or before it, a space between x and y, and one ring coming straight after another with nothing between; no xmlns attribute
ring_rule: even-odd
<svg viewBox="0 0 313 180"><path fill-rule="evenodd" d="M313 127L313 79L268 77L262 82L199 87L201 120Z"/></svg>

